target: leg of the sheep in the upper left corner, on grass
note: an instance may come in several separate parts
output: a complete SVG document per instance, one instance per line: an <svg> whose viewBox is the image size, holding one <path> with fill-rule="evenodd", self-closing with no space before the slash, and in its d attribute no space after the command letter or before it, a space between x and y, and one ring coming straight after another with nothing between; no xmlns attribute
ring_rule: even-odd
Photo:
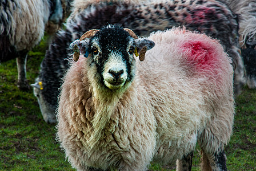
<svg viewBox="0 0 256 171"><path fill-rule="evenodd" d="M17 58L17 69L18 69L18 88L29 89L26 79L26 63L27 63L27 51L20 51Z"/></svg>

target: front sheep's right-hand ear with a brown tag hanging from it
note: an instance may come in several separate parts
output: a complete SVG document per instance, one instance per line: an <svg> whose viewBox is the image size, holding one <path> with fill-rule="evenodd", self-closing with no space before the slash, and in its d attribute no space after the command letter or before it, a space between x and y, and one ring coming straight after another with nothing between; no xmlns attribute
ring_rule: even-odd
<svg viewBox="0 0 256 171"><path fill-rule="evenodd" d="M147 50L150 50L155 46L155 43L153 41L145 38L134 39L134 44L136 47L136 53L139 53L139 60L141 61L145 59L145 54Z"/></svg>

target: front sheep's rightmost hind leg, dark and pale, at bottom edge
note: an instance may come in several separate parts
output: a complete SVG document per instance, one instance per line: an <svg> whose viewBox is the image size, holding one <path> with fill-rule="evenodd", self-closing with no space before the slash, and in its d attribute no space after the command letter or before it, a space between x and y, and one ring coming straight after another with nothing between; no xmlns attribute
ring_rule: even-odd
<svg viewBox="0 0 256 171"><path fill-rule="evenodd" d="M213 170L221 171L227 170L226 166L226 154L224 150L221 150L219 153L207 154L202 150L201 158L201 169L202 170Z"/></svg>

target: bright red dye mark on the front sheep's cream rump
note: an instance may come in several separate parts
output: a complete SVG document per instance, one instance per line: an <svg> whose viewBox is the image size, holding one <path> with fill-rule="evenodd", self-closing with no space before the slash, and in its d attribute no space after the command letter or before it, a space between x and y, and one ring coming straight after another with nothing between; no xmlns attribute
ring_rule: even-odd
<svg viewBox="0 0 256 171"><path fill-rule="evenodd" d="M213 55L213 50L206 47L202 42L194 41L183 44L182 51L187 54L187 62L197 68L209 68L218 56Z"/></svg>

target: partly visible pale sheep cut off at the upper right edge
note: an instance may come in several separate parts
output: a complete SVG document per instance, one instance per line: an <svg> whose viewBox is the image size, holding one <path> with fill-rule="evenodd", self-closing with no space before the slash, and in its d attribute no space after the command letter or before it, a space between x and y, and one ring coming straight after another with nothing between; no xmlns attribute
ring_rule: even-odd
<svg viewBox="0 0 256 171"><path fill-rule="evenodd" d="M247 86L249 88L256 88L256 1L225 0L225 3L234 13L239 14L239 39L246 68Z"/></svg>

